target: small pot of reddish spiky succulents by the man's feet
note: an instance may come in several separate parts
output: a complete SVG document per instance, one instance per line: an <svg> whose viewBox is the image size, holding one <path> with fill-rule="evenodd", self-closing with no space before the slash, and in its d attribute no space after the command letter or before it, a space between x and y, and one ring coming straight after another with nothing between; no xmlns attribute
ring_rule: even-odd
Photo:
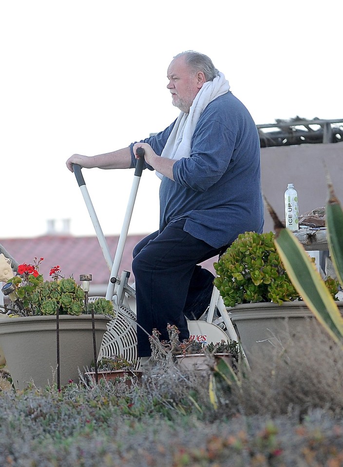
<svg viewBox="0 0 343 467"><path fill-rule="evenodd" d="M183 369L209 370L218 359L225 359L229 365L235 366L240 356L240 346L235 341L203 342L194 339L179 341L179 330L175 325L167 326L169 341L160 341L160 333L153 329L150 337L152 361L161 364L170 357L176 365Z"/></svg>

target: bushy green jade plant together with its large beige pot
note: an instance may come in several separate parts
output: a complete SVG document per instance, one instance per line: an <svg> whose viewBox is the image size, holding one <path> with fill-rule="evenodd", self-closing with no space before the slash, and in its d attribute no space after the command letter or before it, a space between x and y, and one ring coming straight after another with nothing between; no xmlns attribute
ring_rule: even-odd
<svg viewBox="0 0 343 467"><path fill-rule="evenodd" d="M272 232L240 234L214 269L214 285L246 353L282 341L289 331L301 329L304 318L313 317L288 277ZM339 283L329 277L325 284L335 297Z"/></svg>

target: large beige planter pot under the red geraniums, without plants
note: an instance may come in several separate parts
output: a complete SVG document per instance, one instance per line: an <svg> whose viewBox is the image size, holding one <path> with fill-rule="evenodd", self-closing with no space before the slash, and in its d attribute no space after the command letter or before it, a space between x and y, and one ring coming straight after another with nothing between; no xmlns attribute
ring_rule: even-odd
<svg viewBox="0 0 343 467"><path fill-rule="evenodd" d="M109 319L95 316L97 353ZM0 345L16 389L33 380L37 387L57 382L56 316L6 318L0 321ZM77 382L94 360L92 316L59 317L60 384ZM55 376L53 376L53 373Z"/></svg>

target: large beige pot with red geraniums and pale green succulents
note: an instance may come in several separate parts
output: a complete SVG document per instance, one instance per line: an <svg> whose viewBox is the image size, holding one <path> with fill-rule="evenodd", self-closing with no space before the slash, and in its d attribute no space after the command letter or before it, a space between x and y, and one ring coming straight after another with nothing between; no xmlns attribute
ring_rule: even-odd
<svg viewBox="0 0 343 467"><path fill-rule="evenodd" d="M59 266L51 268L52 280L44 281L38 272L42 260L19 265L19 275L3 287L10 288L11 301L1 305L0 345L16 389L31 380L38 387L56 381L58 360L60 384L77 380L79 369L94 359L92 309L99 347L114 315L112 302L98 298L88 303L82 288L72 277L64 278Z"/></svg>

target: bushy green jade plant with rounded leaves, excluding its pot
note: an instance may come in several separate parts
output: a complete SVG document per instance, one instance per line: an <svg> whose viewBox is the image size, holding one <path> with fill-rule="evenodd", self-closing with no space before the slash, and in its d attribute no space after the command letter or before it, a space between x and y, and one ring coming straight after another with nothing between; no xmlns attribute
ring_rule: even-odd
<svg viewBox="0 0 343 467"><path fill-rule="evenodd" d="M274 244L272 232L245 232L214 263L218 288L226 306L273 302L281 305L301 299L288 277ZM334 297L339 283L331 278L326 287Z"/></svg>

